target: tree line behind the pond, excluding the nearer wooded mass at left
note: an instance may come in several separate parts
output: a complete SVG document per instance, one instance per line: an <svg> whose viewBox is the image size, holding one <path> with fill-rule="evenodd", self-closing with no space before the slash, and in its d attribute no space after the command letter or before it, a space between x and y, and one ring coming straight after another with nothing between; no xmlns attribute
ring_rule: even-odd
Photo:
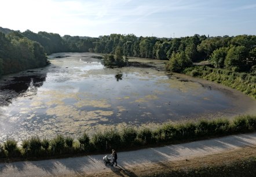
<svg viewBox="0 0 256 177"><path fill-rule="evenodd" d="M29 30L23 32L23 35L41 43L47 54L60 51L115 54L118 50L126 57L170 60L167 69L174 72L180 72L193 62L203 60L210 60L215 68L233 71L250 71L256 65L255 35L206 37L195 34L172 39L111 34L90 38L70 35L61 37L47 32L35 34Z"/></svg>

